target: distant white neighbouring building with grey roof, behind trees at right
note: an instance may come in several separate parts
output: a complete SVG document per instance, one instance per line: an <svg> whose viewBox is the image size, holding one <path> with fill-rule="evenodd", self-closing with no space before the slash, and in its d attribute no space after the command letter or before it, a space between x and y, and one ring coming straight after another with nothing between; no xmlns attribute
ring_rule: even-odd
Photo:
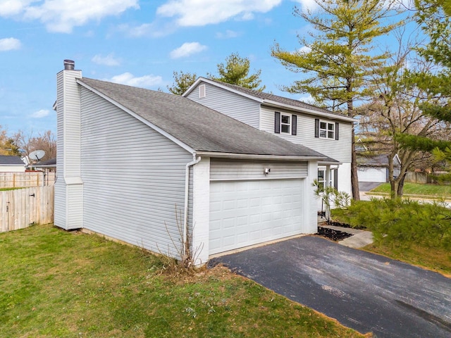
<svg viewBox="0 0 451 338"><path fill-rule="evenodd" d="M357 158L357 175L359 182L389 182L388 156L359 156ZM393 157L393 176L400 175L401 161L397 154Z"/></svg>

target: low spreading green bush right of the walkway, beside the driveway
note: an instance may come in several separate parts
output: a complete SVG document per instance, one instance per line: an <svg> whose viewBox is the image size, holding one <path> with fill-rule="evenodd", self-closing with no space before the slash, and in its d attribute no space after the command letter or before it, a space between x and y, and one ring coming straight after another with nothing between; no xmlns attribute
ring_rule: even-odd
<svg viewBox="0 0 451 338"><path fill-rule="evenodd" d="M409 199L352 201L334 218L352 227L366 227L379 244L411 244L451 249L451 210L443 204L422 204Z"/></svg>

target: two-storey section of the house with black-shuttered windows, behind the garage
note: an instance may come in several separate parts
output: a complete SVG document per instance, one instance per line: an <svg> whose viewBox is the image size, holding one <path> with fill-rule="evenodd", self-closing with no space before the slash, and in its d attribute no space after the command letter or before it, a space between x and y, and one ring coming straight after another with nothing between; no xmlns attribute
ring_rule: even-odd
<svg viewBox="0 0 451 338"><path fill-rule="evenodd" d="M328 156L319 161L317 179L352 195L353 118L302 101L199 79L183 96L259 130Z"/></svg>

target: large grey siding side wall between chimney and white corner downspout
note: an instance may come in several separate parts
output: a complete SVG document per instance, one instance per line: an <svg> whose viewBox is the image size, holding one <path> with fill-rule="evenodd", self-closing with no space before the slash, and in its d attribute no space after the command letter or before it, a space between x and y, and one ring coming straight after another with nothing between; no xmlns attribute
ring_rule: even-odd
<svg viewBox="0 0 451 338"><path fill-rule="evenodd" d="M192 154L88 89L81 101L84 227L178 257Z"/></svg>

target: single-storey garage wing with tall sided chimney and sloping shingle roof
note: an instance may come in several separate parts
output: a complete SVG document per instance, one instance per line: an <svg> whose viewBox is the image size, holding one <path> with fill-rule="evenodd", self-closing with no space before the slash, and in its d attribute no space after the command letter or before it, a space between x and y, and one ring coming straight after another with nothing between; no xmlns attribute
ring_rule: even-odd
<svg viewBox="0 0 451 338"><path fill-rule="evenodd" d="M55 108L58 227L178 258L191 237L197 263L317 231L318 151L183 96L84 78L73 61Z"/></svg>

